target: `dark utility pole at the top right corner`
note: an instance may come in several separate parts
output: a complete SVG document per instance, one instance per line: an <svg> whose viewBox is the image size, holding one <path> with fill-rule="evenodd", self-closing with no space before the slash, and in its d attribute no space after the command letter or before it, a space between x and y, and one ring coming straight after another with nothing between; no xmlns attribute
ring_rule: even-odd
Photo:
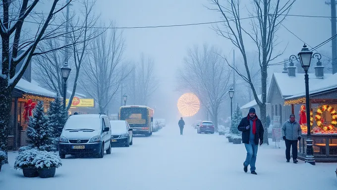
<svg viewBox="0 0 337 190"><path fill-rule="evenodd" d="M332 37L337 34L336 23L336 0L326 1L326 4L331 6L331 35ZM332 67L333 74L337 73L337 38L332 39Z"/></svg>

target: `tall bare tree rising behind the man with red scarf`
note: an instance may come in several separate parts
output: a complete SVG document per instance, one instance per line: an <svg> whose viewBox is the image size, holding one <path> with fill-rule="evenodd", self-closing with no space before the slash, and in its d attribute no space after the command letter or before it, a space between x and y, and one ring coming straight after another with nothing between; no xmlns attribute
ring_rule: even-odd
<svg viewBox="0 0 337 190"><path fill-rule="evenodd" d="M215 27L217 33L237 47L243 57L246 76L240 70L235 69L236 73L244 79L253 91L254 98L260 107L261 121L266 126L266 100L267 100L267 68L270 61L279 57L281 53L274 53L274 47L277 45L276 32L278 31L281 22L284 20L285 15L288 14L291 5L295 0L251 0L252 10L247 10L250 14L250 29L245 28L243 18L241 17L241 8L239 0L210 0L217 10L221 13L224 19L225 30L219 26ZM249 71L246 55L246 37L250 38L256 46L256 51L259 55L259 64L261 68L261 87L262 98L259 99L256 93L255 86L252 82L252 74ZM230 66L230 64L228 63ZM268 142L268 133L264 135L264 143Z"/></svg>

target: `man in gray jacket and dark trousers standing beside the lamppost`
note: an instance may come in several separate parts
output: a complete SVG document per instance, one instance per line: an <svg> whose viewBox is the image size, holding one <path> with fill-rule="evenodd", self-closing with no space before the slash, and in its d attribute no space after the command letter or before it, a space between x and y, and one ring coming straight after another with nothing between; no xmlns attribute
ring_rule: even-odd
<svg viewBox="0 0 337 190"><path fill-rule="evenodd" d="M288 121L282 126L282 138L285 141L285 157L286 162L290 160L290 146L292 146L292 160L296 164L297 161L297 141L301 140L302 129L295 120L295 115L291 114Z"/></svg>

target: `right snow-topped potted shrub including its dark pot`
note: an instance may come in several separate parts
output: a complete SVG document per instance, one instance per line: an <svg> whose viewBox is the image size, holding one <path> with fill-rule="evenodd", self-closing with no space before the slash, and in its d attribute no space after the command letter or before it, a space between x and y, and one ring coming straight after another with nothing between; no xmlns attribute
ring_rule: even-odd
<svg viewBox="0 0 337 190"><path fill-rule="evenodd" d="M33 161L40 178L52 178L56 168L62 166L61 158L54 152L41 151Z"/></svg>

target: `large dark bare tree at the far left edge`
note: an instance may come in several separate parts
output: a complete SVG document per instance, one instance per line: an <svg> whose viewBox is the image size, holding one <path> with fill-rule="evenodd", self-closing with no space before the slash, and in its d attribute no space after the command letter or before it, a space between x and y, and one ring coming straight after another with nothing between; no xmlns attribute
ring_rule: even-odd
<svg viewBox="0 0 337 190"><path fill-rule="evenodd" d="M0 64L0 149L7 152L7 135L10 125L11 94L19 82L32 57L56 50L37 50L38 44L47 39L57 38L63 24L56 29L48 30L53 17L66 5L59 5L59 0L49 1L47 14L38 14L34 9L43 0L2 0L0 6L0 36L1 36L1 64ZM69 0L71 2L71 0ZM30 20L30 26L36 33L30 35L23 29L24 23ZM35 23L31 23L35 20ZM67 45L66 45L67 46ZM20 53L19 53L20 52ZM22 66L16 70L18 63ZM7 158L5 162L7 162Z"/></svg>

